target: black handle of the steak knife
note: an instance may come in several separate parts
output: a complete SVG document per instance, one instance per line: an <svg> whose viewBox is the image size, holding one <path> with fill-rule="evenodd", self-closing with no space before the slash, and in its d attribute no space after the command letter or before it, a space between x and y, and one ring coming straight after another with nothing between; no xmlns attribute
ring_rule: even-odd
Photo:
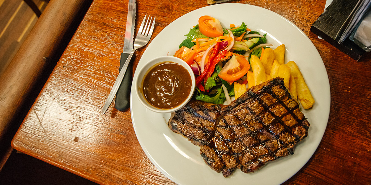
<svg viewBox="0 0 371 185"><path fill-rule="evenodd" d="M120 58L120 69L121 71L122 66L124 65L126 59L129 57L129 53L121 53ZM131 58L132 60L133 58ZM124 75L124 79L120 87L116 92L116 100L115 100L115 108L119 111L125 111L130 107L130 91L131 91L131 83L132 83L132 63L129 62L128 68Z"/></svg>

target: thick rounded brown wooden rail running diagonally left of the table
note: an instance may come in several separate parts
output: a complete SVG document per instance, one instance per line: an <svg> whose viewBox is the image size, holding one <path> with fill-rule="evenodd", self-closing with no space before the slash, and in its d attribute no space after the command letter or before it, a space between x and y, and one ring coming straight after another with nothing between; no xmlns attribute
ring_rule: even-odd
<svg viewBox="0 0 371 185"><path fill-rule="evenodd" d="M0 171L10 142L92 0L52 0L0 74Z"/></svg>

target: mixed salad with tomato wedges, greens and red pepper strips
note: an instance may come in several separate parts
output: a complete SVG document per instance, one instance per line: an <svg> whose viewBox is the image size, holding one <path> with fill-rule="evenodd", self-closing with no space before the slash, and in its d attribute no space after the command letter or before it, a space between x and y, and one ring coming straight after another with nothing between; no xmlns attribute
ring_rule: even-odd
<svg viewBox="0 0 371 185"><path fill-rule="evenodd" d="M194 98L213 104L229 104L230 97L246 91L251 56L260 58L265 48L273 46L267 44L266 34L252 31L244 23L223 28L211 16L201 16L185 36L174 56L193 69Z"/></svg>

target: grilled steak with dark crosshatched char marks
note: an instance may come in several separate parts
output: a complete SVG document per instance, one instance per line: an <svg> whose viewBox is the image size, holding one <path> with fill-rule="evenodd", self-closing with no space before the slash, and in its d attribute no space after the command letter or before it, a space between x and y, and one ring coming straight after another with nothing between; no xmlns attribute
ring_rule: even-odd
<svg viewBox="0 0 371 185"><path fill-rule="evenodd" d="M168 126L199 145L205 163L227 177L236 168L249 173L293 154L309 122L282 78L274 78L229 105L192 100L171 114Z"/></svg>

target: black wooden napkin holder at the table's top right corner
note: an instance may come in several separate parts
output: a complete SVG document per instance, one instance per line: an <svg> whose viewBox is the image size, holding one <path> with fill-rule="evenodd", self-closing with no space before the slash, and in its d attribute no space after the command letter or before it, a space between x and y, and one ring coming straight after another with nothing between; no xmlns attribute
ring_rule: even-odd
<svg viewBox="0 0 371 185"><path fill-rule="evenodd" d="M357 0L334 0L327 9L318 17L311 26L311 31L338 48L354 60L359 60L365 53L361 47L348 38L338 43L340 35L338 31L351 14L357 4Z"/></svg>

